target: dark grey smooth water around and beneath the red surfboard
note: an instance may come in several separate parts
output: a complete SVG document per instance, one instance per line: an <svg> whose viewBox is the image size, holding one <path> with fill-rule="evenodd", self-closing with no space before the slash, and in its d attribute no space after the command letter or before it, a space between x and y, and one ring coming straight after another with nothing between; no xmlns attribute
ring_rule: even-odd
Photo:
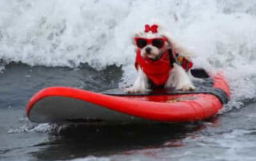
<svg viewBox="0 0 256 161"><path fill-rule="evenodd" d="M255 160L256 104L187 124L49 125L26 119L27 101L53 85L116 88L122 70L6 66L0 75L1 160ZM94 80L94 81L92 81Z"/></svg>

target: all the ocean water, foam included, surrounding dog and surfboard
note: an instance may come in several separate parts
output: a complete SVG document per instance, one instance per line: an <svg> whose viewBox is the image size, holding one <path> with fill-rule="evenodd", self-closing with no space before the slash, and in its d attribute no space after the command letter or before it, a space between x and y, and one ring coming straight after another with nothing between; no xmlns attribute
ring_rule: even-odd
<svg viewBox="0 0 256 161"><path fill-rule="evenodd" d="M0 159L256 159L256 1L2 0L0 9ZM132 84L132 37L152 22L194 52L195 67L226 75L231 99L218 116L121 127L27 120L42 88Z"/></svg>

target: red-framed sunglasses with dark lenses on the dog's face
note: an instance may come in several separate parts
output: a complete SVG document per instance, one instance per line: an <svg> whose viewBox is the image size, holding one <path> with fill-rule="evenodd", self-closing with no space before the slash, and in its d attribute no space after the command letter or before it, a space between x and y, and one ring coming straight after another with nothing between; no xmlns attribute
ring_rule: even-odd
<svg viewBox="0 0 256 161"><path fill-rule="evenodd" d="M158 49L162 48L166 43L166 37L159 37L159 38L143 38L143 37L135 37L134 38L135 45L138 48L142 49L146 45L154 45Z"/></svg>

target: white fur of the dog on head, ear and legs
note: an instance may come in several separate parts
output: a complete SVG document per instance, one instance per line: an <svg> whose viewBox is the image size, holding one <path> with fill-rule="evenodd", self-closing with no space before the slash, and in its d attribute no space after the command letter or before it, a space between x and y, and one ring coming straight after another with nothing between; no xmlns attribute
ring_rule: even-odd
<svg viewBox="0 0 256 161"><path fill-rule="evenodd" d="M142 49L142 57L154 58L157 57L158 54L162 53L164 50L168 48L172 48L176 53L179 53L183 57L186 57L187 60L190 61L190 57L192 56L192 52L182 47L182 45L178 44L178 41L174 41L174 38L170 36L170 33L166 32L162 26L159 26L158 33L137 33L134 37L146 37L146 38L154 38L154 37L166 37L167 43L162 49L158 49L152 45L146 45ZM152 51L150 54L146 54L146 47L151 47ZM170 76L166 81L165 88L175 88L177 90L194 90L194 84L191 81L192 77L190 72L186 73L185 69L182 66L174 63L174 68L170 71ZM142 71L142 69L138 68L138 77L136 78L132 87L127 88L126 92L134 93L134 92L149 92L150 84L148 84L148 78L146 74Z"/></svg>

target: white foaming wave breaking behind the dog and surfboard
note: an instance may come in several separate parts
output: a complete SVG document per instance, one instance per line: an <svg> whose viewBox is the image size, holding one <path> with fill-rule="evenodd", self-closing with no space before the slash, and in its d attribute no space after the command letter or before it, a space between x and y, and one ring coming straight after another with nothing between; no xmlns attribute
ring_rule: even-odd
<svg viewBox="0 0 256 161"><path fill-rule="evenodd" d="M230 81L232 102L256 93L256 2L194 1L2 1L0 59L28 65L122 65L134 81L134 31L157 19L196 53L194 65L218 69ZM1 67L0 71L3 67Z"/></svg>

